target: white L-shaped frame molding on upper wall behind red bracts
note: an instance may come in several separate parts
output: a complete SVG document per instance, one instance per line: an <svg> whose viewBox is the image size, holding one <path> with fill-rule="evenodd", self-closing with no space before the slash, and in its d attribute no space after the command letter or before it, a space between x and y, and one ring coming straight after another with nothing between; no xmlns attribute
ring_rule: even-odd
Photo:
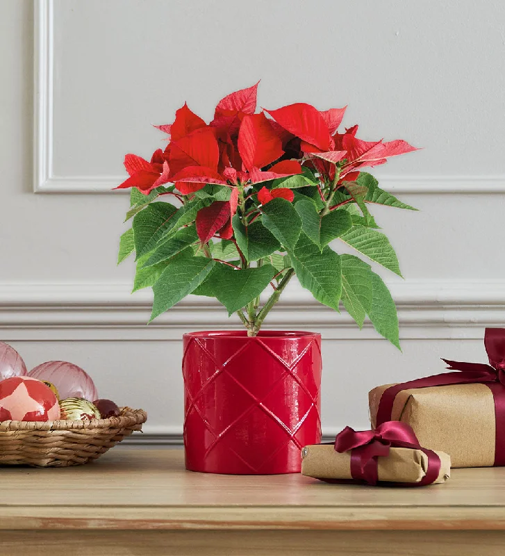
<svg viewBox="0 0 505 556"><path fill-rule="evenodd" d="M35 193L113 193L124 176L58 176L53 172L53 0L35 0L34 172ZM505 175L383 176L397 194L505 193ZM117 195L117 192L114 192Z"/></svg>

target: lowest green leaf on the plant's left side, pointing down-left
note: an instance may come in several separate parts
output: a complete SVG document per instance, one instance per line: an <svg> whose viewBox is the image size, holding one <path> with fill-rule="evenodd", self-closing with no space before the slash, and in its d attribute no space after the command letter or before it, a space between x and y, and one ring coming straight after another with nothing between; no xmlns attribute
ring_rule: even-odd
<svg viewBox="0 0 505 556"><path fill-rule="evenodd" d="M170 259L153 286L154 303L149 322L192 293L215 264L212 259L185 256L184 253Z"/></svg>

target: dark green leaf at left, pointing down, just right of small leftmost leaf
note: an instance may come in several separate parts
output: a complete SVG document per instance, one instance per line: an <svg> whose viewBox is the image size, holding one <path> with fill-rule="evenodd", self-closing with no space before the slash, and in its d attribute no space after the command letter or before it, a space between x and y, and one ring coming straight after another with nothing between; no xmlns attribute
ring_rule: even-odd
<svg viewBox="0 0 505 556"><path fill-rule="evenodd" d="M132 227L137 259L151 251L156 245L152 239L160 233L160 230L171 225L171 220L176 213L177 209L172 204L156 202L149 204L135 215Z"/></svg>

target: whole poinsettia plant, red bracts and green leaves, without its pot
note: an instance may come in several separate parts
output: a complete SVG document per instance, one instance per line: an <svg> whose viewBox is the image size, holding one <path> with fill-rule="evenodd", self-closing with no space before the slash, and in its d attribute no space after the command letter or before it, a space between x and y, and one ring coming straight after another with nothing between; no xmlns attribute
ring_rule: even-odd
<svg viewBox="0 0 505 556"><path fill-rule="evenodd" d="M358 126L339 133L345 108L256 113L257 88L224 97L209 124L184 104L157 126L165 149L150 161L126 155L118 188L131 188L133 220L118 262L135 252L134 290L153 288L151 320L186 295L208 295L254 336L296 275L317 301L343 306L359 327L369 318L399 347L395 303L370 263L401 272L369 208L415 208L364 170L415 147L358 139Z"/></svg>

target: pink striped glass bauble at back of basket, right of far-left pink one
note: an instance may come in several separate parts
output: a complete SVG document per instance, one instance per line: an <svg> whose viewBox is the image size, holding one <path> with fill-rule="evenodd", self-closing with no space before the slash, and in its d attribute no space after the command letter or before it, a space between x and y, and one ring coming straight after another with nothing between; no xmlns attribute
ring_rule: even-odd
<svg viewBox="0 0 505 556"><path fill-rule="evenodd" d="M60 400L84 398L92 402L98 398L97 388L90 375L68 361L46 361L33 368L28 376L54 384Z"/></svg>

